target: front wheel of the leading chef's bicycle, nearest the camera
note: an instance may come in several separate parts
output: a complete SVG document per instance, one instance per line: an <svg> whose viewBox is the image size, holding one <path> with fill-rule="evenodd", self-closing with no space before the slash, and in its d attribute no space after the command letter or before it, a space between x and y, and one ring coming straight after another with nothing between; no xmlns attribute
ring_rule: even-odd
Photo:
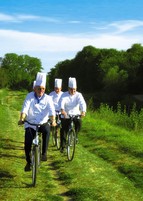
<svg viewBox="0 0 143 201"><path fill-rule="evenodd" d="M38 146L34 146L32 150L32 185L36 185L36 177L38 170Z"/></svg>

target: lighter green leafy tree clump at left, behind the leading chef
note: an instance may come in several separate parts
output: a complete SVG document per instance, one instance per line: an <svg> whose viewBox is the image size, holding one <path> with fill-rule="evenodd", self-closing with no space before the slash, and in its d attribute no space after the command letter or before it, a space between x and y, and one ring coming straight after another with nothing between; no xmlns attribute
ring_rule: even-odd
<svg viewBox="0 0 143 201"><path fill-rule="evenodd" d="M37 72L42 69L38 58L15 53L5 54L0 68L1 87L31 90Z"/></svg>

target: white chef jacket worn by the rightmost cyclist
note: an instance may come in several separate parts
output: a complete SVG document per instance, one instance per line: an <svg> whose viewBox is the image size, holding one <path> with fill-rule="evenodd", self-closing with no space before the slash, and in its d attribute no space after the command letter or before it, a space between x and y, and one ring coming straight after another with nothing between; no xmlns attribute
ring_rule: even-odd
<svg viewBox="0 0 143 201"><path fill-rule="evenodd" d="M86 102L80 92L76 91L74 95L70 95L67 91L61 96L60 108L67 114L80 115L81 112L86 112ZM63 118L63 115L61 117Z"/></svg>

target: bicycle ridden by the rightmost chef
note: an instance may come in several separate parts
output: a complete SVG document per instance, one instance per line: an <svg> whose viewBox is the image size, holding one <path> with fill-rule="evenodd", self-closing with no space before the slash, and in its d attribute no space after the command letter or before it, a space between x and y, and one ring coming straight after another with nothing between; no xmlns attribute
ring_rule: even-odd
<svg viewBox="0 0 143 201"><path fill-rule="evenodd" d="M74 119L80 118L80 115L68 115L70 119L69 129L66 135L66 149L68 161L72 161L75 154L75 146L77 140L77 134L74 128Z"/></svg>

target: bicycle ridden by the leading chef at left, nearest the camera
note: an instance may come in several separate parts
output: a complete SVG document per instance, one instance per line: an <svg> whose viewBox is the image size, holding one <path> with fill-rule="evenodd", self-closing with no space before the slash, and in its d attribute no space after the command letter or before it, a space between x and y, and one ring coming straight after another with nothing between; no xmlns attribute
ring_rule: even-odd
<svg viewBox="0 0 143 201"><path fill-rule="evenodd" d="M31 147L32 186L35 186L38 167L40 167L41 155L42 155L42 146L41 146L42 139L40 133L38 132L38 128L41 126L41 124L30 123L27 120L24 120L24 122L27 122L32 126L36 126L36 134L32 141L32 147Z"/></svg>

